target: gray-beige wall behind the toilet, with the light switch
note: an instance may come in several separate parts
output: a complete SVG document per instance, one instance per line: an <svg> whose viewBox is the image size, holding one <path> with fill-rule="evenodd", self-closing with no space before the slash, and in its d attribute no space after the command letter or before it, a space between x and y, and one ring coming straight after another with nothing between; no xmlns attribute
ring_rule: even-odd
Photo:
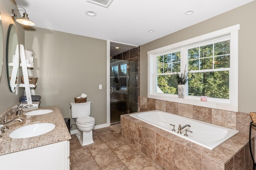
<svg viewBox="0 0 256 170"><path fill-rule="evenodd" d="M107 41L38 27L33 29L25 31L25 49L34 53L32 73L38 77L35 92L42 96L40 106L58 105L62 115L70 117L70 102L85 93L92 102L91 116L96 125L107 123Z"/></svg>

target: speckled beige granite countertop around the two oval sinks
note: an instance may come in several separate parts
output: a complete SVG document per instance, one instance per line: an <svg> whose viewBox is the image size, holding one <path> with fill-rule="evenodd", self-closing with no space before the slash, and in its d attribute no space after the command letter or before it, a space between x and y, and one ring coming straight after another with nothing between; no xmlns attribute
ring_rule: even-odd
<svg viewBox="0 0 256 170"><path fill-rule="evenodd" d="M20 115L19 117L24 118L26 120L22 122L15 121L14 123L8 125L10 129L6 129L6 132L2 134L3 137L0 138L0 155L9 154L12 152L17 152L26 149L32 149L35 147L41 147L44 145L49 145L52 143L57 143L71 139L70 133L68 131L62 113L60 112L60 108L58 106L38 107L38 109L52 109L53 112L33 116L23 114ZM23 113L26 112L28 111L24 111ZM15 116L15 114L13 114L11 119L15 118L18 118L18 116ZM54 123L56 127L52 131L36 137L23 139L12 139L9 137L9 134L12 131L22 126L31 125L34 123Z"/></svg>

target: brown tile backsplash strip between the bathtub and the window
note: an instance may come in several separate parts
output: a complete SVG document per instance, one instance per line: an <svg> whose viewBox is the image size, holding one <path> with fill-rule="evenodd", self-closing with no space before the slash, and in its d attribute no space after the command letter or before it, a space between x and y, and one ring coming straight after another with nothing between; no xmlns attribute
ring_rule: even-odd
<svg viewBox="0 0 256 170"><path fill-rule="evenodd" d="M246 135L249 135L250 122L252 122L252 118L249 113L212 109L209 107L193 106L141 96L139 97L138 108L138 111L166 111L168 113L174 113L176 115L212 123L214 125L236 129L240 133L244 133ZM255 127L252 128L252 136L256 137Z"/></svg>

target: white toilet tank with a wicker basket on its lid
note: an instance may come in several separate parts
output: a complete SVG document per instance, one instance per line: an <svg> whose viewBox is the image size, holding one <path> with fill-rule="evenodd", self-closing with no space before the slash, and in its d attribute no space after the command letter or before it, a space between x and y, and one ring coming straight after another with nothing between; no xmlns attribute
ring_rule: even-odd
<svg viewBox="0 0 256 170"><path fill-rule="evenodd" d="M71 115L72 118L78 118L83 116L90 116L91 114L91 103L90 101L87 101L86 103L75 103L71 102Z"/></svg>

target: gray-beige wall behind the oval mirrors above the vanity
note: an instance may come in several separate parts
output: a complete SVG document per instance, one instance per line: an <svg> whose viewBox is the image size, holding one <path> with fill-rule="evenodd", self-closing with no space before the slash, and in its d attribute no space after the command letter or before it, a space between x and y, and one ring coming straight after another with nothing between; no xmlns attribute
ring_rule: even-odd
<svg viewBox="0 0 256 170"><path fill-rule="evenodd" d="M14 106L19 102L20 96L24 93L24 90L19 90L19 94L12 93L10 91L7 79L7 71L6 71L6 43L7 43L7 34L8 34L8 27L11 23L14 23L10 14L12 14L12 9L15 9L16 3L14 0L0 0L0 12L1 12L1 19L3 25L3 33L4 33L4 65L2 70L2 76L0 80L0 113L4 112L11 106ZM19 14L18 14L19 15ZM19 15L20 16L20 15ZM18 34L18 41L19 44L24 44L24 28L20 26L18 23L14 23L17 29ZM2 40L1 40L2 41ZM1 51L2 53L2 51ZM21 69L19 70L19 80L21 77Z"/></svg>

